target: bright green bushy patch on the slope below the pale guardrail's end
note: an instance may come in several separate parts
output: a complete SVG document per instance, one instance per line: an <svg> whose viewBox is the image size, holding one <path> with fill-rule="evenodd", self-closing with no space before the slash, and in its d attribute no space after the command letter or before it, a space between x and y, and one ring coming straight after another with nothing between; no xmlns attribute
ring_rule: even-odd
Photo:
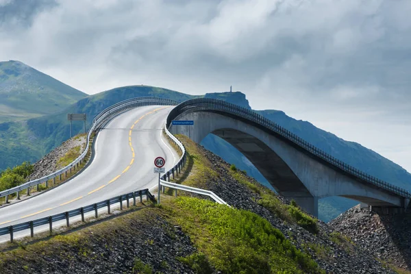
<svg viewBox="0 0 411 274"><path fill-rule="evenodd" d="M179 197L167 208L210 264L223 273L323 273L266 219L202 199ZM191 256L188 264L206 264Z"/></svg>

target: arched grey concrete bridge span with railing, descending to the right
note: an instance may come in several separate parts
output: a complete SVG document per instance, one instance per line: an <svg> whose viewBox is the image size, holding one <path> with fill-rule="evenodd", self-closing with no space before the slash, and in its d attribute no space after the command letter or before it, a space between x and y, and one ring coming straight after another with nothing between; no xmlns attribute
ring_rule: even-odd
<svg viewBox="0 0 411 274"><path fill-rule="evenodd" d="M192 120L194 126L172 125ZM380 210L406 209L410 192L383 182L313 147L260 114L217 99L177 105L167 119L173 134L199 143L215 134L236 147L288 199L318 216L318 199L341 196Z"/></svg>

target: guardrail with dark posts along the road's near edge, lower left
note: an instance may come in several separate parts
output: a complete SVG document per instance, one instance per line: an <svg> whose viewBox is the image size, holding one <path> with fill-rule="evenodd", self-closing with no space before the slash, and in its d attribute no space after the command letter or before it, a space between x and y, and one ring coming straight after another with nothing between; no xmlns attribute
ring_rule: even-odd
<svg viewBox="0 0 411 274"><path fill-rule="evenodd" d="M127 202L127 208L129 208L129 200L133 199L133 206L136 206L136 199L140 197L140 203L142 203L142 196L146 195L147 201L151 200L155 202L155 198L148 189L138 190L134 192L127 193L118 197L107 199L105 201L100 201L99 203L93 203L89 206L84 206L82 208L77 208L75 210L66 211L60 214L55 214L47 216L44 218L36 219L34 221L28 221L25 223L18 223L17 225L10 225L8 227L0 228L0 236L10 234L10 242L13 242L14 232L21 232L23 230L30 229L30 236L34 237L34 227L39 227L40 225L49 225L50 234L53 232L53 222L62 221L66 219L66 226L70 226L70 218L74 216L82 216L82 222L84 222L84 214L88 212L95 212L95 218L98 218L98 210L100 208L107 207L107 212L110 214L110 206L115 203L120 203L120 210L123 210L123 201Z"/></svg>

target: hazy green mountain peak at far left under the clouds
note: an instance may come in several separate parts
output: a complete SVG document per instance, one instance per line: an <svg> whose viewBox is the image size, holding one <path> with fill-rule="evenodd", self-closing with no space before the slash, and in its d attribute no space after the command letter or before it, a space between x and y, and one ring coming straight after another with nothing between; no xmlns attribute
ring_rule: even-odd
<svg viewBox="0 0 411 274"><path fill-rule="evenodd" d="M86 96L22 62L0 62L0 123L62 111Z"/></svg>

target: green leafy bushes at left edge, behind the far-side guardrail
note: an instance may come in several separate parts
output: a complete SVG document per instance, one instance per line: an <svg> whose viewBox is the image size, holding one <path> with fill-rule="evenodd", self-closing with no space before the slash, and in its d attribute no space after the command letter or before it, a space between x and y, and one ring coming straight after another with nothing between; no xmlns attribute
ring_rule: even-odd
<svg viewBox="0 0 411 274"><path fill-rule="evenodd" d="M13 169L6 169L0 173L0 191L14 188L25 183L28 175L32 174L34 166L29 162L23 162L20 166Z"/></svg>

